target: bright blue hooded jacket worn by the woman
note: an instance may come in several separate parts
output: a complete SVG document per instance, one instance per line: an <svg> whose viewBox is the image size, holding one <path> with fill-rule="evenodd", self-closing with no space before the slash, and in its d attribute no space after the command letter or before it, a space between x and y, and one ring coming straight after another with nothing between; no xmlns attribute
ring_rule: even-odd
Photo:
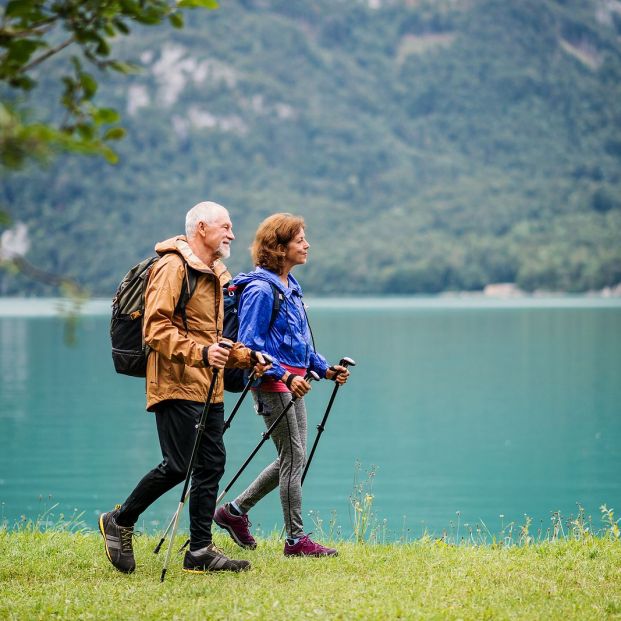
<svg viewBox="0 0 621 621"><path fill-rule="evenodd" d="M282 294L280 309L271 329L274 294L270 282ZM289 275L290 288L287 288L274 272L257 267L254 272L238 274L233 284L245 285L239 299L238 340L250 349L263 351L275 358L274 365L265 376L280 379L285 369L279 363L284 363L315 371L319 377L325 377L329 365L322 355L313 350L302 288L297 280Z"/></svg>

